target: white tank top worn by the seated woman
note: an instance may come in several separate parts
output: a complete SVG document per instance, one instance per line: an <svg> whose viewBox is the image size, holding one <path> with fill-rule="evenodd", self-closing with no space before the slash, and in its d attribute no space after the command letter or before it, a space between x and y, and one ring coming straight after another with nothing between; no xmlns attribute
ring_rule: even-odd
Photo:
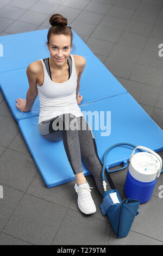
<svg viewBox="0 0 163 256"><path fill-rule="evenodd" d="M44 81L42 86L37 85L40 100L39 123L65 113L72 113L76 117L83 116L76 99L78 79L76 66L73 55L70 54L70 56L72 72L70 78L64 83L53 82L48 75L45 63L40 59L43 65Z"/></svg>

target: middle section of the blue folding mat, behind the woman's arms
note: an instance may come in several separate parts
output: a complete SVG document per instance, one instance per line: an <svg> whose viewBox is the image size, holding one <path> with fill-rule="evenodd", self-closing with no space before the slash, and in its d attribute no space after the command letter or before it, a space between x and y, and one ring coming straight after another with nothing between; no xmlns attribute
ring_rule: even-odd
<svg viewBox="0 0 163 256"><path fill-rule="evenodd" d="M85 56L85 59L86 66L80 80L80 94L83 96L80 105L127 92L95 55ZM15 100L18 97L26 99L29 89L26 69L0 73L0 88L16 121L39 115L39 95L30 112L23 113L16 107Z"/></svg>

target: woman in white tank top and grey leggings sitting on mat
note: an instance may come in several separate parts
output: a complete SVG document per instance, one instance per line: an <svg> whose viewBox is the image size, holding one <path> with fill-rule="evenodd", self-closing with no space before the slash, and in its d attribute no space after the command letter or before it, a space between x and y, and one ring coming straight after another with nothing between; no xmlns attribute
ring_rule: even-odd
<svg viewBox="0 0 163 256"><path fill-rule="evenodd" d="M17 99L16 107L22 112L30 111L39 94L39 132L49 141L63 140L68 161L76 176L74 189L78 194L79 209L84 214L93 214L96 206L83 174L81 157L101 194L102 163L97 155L93 132L78 106L82 101L79 82L85 68L85 58L70 54L73 34L71 27L67 26L67 19L53 14L49 22L52 25L47 35L50 58L36 60L28 66L26 100Z"/></svg>

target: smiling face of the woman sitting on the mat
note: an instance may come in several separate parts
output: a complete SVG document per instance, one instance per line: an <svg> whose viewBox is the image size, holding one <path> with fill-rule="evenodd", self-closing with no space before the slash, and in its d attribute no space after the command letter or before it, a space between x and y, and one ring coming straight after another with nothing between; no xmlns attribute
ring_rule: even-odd
<svg viewBox="0 0 163 256"><path fill-rule="evenodd" d="M70 56L71 51L71 37L67 35L51 34L49 44L47 42L48 50L51 59L57 65L64 65Z"/></svg>

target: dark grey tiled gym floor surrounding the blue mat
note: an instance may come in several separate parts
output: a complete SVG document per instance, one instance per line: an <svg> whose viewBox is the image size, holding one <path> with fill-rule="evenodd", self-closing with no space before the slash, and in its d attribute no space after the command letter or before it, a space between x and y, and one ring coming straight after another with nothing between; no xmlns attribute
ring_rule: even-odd
<svg viewBox="0 0 163 256"><path fill-rule="evenodd" d="M162 129L163 57L158 46L163 43L163 0L0 0L0 36L49 28L54 13L67 17L68 25ZM101 214L102 197L92 176L87 181L97 212L89 216L78 209L74 181L45 186L1 92L0 156L0 244L162 245L163 174L152 199L140 205L128 236L118 240ZM126 173L111 175L122 199Z"/></svg>

